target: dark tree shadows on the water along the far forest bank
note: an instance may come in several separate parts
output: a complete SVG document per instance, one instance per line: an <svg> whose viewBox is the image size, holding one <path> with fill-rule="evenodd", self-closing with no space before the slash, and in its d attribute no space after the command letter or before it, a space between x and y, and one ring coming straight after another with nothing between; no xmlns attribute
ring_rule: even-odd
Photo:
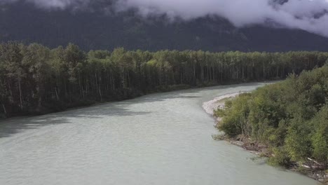
<svg viewBox="0 0 328 185"><path fill-rule="evenodd" d="M189 90L177 90L168 93L156 93L138 97L132 100L125 100L122 102L109 102L104 104L96 104L92 107L85 107L81 109L71 109L60 113L47 114L44 116L34 116L27 118L10 118L0 121L0 138L11 137L19 132L25 130L37 129L46 125L57 125L64 123L71 123L71 118L86 118L86 119L99 119L108 116L138 116L150 114L149 111L131 111L128 109L133 104L144 104L152 102L163 102L172 99L192 99L199 96L193 93L201 93L205 90L219 90L226 88L236 88L245 86L254 86L264 83L245 83L236 85L219 85L209 88L194 88ZM147 106L146 104L143 106ZM78 123L75 123L78 124ZM93 124L90 121L90 124Z"/></svg>

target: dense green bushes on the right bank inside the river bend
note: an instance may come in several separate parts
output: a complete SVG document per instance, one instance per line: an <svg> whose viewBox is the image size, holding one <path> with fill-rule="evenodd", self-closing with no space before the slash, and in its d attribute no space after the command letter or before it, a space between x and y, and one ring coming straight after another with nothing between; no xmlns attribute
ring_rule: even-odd
<svg viewBox="0 0 328 185"><path fill-rule="evenodd" d="M328 64L242 93L214 111L214 139L328 184Z"/></svg>

